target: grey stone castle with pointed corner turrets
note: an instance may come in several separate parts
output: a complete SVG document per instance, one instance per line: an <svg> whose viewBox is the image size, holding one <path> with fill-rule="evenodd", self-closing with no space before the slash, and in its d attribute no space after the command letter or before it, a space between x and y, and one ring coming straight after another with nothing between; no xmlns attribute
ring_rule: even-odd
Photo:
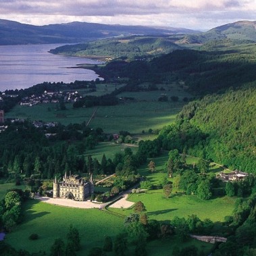
<svg viewBox="0 0 256 256"><path fill-rule="evenodd" d="M86 197L90 197L94 193L93 174L90 181L83 180L78 175L63 177L58 182L57 178L53 181L53 198L73 199L76 201L84 201Z"/></svg>

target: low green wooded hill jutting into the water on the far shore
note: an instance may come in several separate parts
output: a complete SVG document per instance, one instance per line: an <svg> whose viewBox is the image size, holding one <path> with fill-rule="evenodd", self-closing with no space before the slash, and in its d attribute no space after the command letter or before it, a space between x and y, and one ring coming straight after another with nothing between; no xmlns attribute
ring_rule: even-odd
<svg viewBox="0 0 256 256"><path fill-rule="evenodd" d="M175 36L176 38L177 36ZM148 59L170 53L182 47L173 43L169 36L128 36L88 42L78 45L65 45L51 50L54 54L73 56L96 56L111 59Z"/></svg>

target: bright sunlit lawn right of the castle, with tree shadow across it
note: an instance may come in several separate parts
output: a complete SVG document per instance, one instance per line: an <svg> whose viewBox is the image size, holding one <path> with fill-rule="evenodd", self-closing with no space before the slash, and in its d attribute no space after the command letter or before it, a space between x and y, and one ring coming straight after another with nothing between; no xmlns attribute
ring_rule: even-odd
<svg viewBox="0 0 256 256"><path fill-rule="evenodd" d="M223 222L226 215L232 215L236 198L219 197L207 201L198 199L195 195L172 193L168 199L163 195L163 190L149 190L147 193L132 194L129 201L142 201L147 209L147 215L153 220L172 220L175 216L188 217L195 214L201 220L209 218L213 222ZM114 209L129 215L132 209Z"/></svg>

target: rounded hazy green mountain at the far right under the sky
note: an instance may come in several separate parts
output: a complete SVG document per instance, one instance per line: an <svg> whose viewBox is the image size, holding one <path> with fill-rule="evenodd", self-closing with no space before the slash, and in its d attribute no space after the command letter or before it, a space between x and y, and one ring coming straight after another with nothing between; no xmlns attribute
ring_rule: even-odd
<svg viewBox="0 0 256 256"><path fill-rule="evenodd" d="M212 28L200 34L187 34L178 41L179 44L207 44L212 41L226 41L232 43L256 42L256 21L239 21Z"/></svg>

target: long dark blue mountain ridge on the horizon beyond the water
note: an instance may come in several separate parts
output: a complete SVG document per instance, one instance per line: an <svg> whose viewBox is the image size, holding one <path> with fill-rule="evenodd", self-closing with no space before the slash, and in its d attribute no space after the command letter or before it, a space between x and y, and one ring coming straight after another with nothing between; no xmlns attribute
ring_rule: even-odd
<svg viewBox="0 0 256 256"><path fill-rule="evenodd" d="M186 28L151 26L122 26L86 22L71 22L47 26L33 26L0 20L0 45L41 43L81 43L113 36L193 34L199 31Z"/></svg>

